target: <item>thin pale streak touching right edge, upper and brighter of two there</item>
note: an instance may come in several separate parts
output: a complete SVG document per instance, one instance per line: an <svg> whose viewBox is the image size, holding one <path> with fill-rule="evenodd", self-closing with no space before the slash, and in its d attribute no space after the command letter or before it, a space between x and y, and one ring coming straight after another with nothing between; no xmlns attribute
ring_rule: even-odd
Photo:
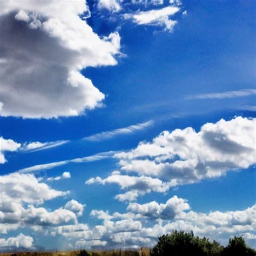
<svg viewBox="0 0 256 256"><path fill-rule="evenodd" d="M239 91L227 91L227 92L215 92L205 93L199 95L190 95L185 99L224 99L224 98L235 98L235 97L246 97L256 95L256 89L244 89Z"/></svg>

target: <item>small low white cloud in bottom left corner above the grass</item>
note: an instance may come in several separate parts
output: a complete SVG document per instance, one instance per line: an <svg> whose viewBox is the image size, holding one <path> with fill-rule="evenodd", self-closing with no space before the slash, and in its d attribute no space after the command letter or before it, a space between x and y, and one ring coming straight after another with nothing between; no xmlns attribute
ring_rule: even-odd
<svg viewBox="0 0 256 256"><path fill-rule="evenodd" d="M1 247L11 248L31 248L33 245L33 238L29 235L19 234L17 237L9 237L8 239L0 238Z"/></svg>

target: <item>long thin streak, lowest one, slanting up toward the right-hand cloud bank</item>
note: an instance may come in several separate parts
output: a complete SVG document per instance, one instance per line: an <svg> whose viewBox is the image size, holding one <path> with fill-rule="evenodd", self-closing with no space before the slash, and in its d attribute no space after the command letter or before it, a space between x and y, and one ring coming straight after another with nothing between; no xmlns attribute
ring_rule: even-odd
<svg viewBox="0 0 256 256"><path fill-rule="evenodd" d="M54 167L63 166L70 163L86 163L90 161L99 161L105 158L110 158L117 152L118 151L107 151L107 152L101 152L98 154L93 154L92 156L87 156L82 158L74 158L70 160L57 161L57 162L52 162L48 164L38 164L38 165L33 165L30 167L26 167L24 169L18 170L17 172L19 173L40 172L40 171L50 170Z"/></svg>

